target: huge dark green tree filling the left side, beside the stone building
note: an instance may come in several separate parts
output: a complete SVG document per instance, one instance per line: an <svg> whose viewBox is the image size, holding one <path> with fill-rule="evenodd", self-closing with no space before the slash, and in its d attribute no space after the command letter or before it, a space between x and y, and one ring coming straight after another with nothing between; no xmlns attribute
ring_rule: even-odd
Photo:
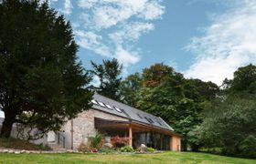
<svg viewBox="0 0 256 164"><path fill-rule="evenodd" d="M2 0L0 25L1 137L9 138L14 123L56 131L90 108L91 77L77 62L63 15L47 2Z"/></svg>

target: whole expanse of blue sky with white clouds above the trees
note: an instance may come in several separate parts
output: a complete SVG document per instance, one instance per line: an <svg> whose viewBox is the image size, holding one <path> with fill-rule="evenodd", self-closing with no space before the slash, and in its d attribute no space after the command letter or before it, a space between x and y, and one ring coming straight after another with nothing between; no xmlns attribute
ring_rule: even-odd
<svg viewBox="0 0 256 164"><path fill-rule="evenodd" d="M125 77L164 62L186 77L220 85L238 67L256 63L255 0L50 0L50 5L71 22L86 68L91 60L115 57Z"/></svg>

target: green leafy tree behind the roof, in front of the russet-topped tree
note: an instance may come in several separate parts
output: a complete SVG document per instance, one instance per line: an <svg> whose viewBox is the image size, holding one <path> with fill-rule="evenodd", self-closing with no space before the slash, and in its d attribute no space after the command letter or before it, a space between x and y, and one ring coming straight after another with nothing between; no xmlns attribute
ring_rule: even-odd
<svg viewBox="0 0 256 164"><path fill-rule="evenodd" d="M201 122L202 107L193 99L185 97L185 78L178 73L165 77L158 87L144 87L138 108L165 119L182 134L182 148L187 150L187 133Z"/></svg>

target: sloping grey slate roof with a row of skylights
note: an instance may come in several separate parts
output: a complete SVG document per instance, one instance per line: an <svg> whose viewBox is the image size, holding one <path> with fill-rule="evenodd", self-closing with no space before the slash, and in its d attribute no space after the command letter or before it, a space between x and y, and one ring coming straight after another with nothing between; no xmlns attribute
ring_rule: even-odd
<svg viewBox="0 0 256 164"><path fill-rule="evenodd" d="M154 115L146 113L137 108L133 108L108 97L103 97L97 93L94 94L93 99L98 102L98 105L93 104L92 108L94 109L98 109L103 112L123 118L128 118L132 121L144 123L150 126L154 126L156 128L165 128L167 130L174 131L174 129L171 128L162 118L155 117ZM105 105L109 105L112 109L108 107L101 107L101 105L99 105L99 102L102 102ZM121 109L122 112L119 112L116 108Z"/></svg>

